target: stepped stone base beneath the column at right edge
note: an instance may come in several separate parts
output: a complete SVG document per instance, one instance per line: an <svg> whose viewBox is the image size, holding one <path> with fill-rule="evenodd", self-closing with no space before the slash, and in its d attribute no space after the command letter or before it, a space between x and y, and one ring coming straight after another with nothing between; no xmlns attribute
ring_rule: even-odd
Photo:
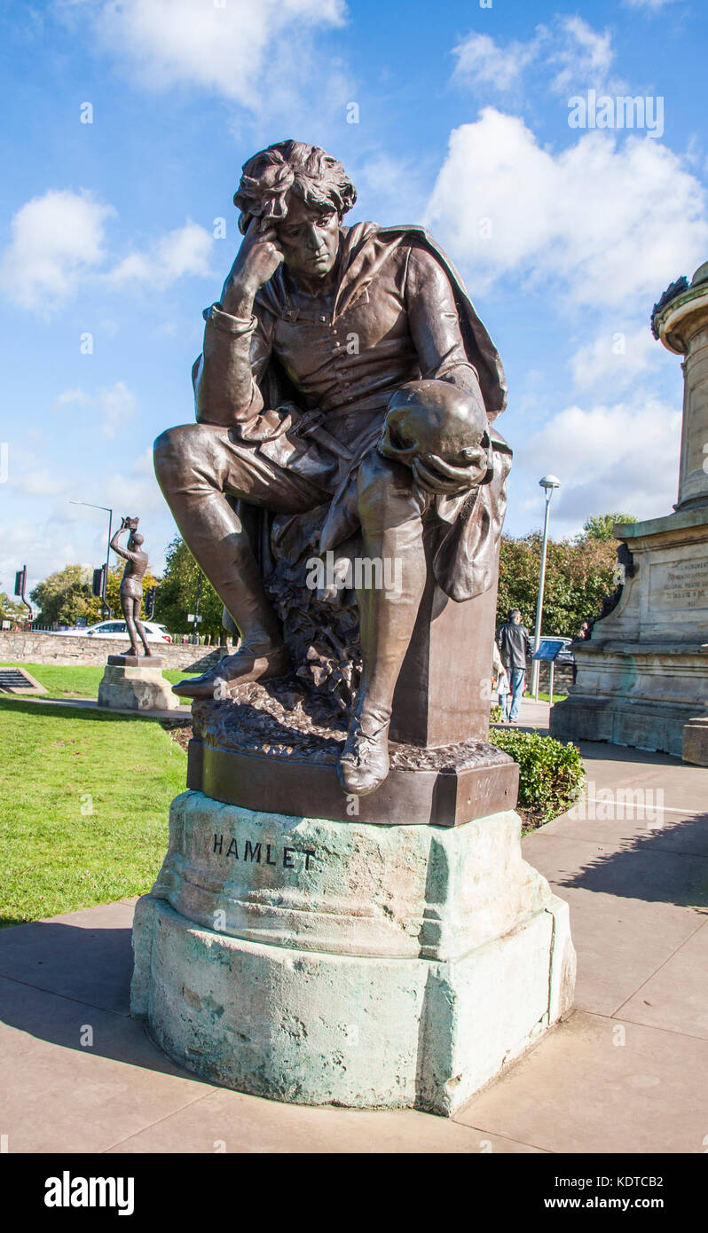
<svg viewBox="0 0 708 1233"><path fill-rule="evenodd" d="M564 741L609 741L708 766L708 509L615 525L632 566L614 612L574 646L550 715Z"/></svg>

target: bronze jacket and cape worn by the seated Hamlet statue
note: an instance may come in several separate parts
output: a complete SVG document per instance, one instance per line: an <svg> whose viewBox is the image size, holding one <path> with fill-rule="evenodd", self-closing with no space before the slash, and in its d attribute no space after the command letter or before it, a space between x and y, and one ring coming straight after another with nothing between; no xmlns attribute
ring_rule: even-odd
<svg viewBox="0 0 708 1233"><path fill-rule="evenodd" d="M355 529L353 472L375 448L389 398L403 382L435 377L484 401L488 422L503 411L503 369L463 281L421 227L342 228L331 295L300 292L280 266L261 289L250 329L210 328L194 369L196 416L228 424L271 461L317 476L333 492L321 549ZM302 412L340 446L338 455L297 433ZM511 451L490 429L491 483L435 498L443 526L433 568L461 600L486 591L496 572Z"/></svg>

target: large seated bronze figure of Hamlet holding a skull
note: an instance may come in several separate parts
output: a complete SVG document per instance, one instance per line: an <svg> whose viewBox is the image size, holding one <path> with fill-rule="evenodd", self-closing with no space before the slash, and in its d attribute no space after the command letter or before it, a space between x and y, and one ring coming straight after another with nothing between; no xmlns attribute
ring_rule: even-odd
<svg viewBox="0 0 708 1233"><path fill-rule="evenodd" d="M364 559L396 566L396 587L371 575L356 584L363 673L338 773L364 795L389 772L424 533L445 597L496 583L511 451L491 427L506 403L501 361L454 266L421 227L343 227L355 200L316 145L279 142L245 163L234 195L244 238L192 370L197 422L158 438L155 472L242 636L175 687L183 697L221 698L290 670L253 507L279 551L295 554L297 534L321 554L359 535Z"/></svg>

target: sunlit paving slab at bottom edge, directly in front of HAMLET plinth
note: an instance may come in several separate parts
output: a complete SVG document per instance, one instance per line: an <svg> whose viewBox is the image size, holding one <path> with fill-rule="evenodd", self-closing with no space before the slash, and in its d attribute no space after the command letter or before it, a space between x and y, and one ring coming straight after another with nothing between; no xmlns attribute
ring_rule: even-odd
<svg viewBox="0 0 708 1233"><path fill-rule="evenodd" d="M413 1110L306 1108L218 1090L111 1148L117 1153L535 1153Z"/></svg>

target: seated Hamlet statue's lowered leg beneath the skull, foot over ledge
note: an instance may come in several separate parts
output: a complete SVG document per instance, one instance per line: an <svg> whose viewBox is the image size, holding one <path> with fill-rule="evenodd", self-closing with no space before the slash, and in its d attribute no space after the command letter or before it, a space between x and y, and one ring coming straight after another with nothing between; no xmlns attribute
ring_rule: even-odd
<svg viewBox="0 0 708 1233"><path fill-rule="evenodd" d="M373 792L389 773L393 689L426 588L421 508L411 472L380 454L359 467L356 496L363 533L358 586L364 671L349 737L339 763L345 792Z"/></svg>

